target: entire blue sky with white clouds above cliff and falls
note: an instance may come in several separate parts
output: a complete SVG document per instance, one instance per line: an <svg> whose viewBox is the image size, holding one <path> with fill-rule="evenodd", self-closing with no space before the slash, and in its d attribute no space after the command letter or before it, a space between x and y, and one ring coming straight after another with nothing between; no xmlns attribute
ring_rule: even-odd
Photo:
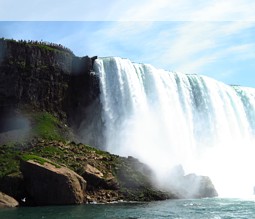
<svg viewBox="0 0 255 219"><path fill-rule="evenodd" d="M0 1L0 37L255 87L253 0Z"/></svg>

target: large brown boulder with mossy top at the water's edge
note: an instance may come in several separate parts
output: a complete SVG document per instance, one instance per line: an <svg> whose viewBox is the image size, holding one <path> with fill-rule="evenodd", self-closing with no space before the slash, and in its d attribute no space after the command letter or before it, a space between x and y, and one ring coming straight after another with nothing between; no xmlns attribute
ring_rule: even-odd
<svg viewBox="0 0 255 219"><path fill-rule="evenodd" d="M28 199L36 205L81 204L86 181L72 170L44 158L22 160Z"/></svg>

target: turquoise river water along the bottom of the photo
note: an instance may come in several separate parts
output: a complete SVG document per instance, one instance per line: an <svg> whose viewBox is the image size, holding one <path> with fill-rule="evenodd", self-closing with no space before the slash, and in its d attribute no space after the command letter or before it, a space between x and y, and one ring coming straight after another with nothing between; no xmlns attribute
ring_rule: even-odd
<svg viewBox="0 0 255 219"><path fill-rule="evenodd" d="M118 203L80 206L24 207L0 210L1 219L64 218L175 218L175 219L251 219L255 200L197 199L150 203Z"/></svg>

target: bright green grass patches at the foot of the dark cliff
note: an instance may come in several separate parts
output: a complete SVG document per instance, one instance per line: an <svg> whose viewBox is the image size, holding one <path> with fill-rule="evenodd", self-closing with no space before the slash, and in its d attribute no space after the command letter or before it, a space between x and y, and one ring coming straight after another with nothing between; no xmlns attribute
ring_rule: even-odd
<svg viewBox="0 0 255 219"><path fill-rule="evenodd" d="M9 142L0 145L0 177L19 172L19 160L24 154L31 156L52 158L61 157L63 151L54 145L44 145L43 147L34 147L40 141L65 141L68 128L53 115L48 112L34 112L26 114L31 120L31 136L28 139L10 139ZM39 143L40 145L40 143ZM64 157L59 159L65 163ZM37 160L38 161L38 160Z"/></svg>

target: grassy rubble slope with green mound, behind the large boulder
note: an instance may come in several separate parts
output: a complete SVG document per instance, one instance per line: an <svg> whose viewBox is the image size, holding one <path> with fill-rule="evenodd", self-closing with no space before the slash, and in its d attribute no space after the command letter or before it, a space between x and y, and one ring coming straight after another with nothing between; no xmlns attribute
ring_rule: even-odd
<svg viewBox="0 0 255 219"><path fill-rule="evenodd" d="M23 142L0 145L0 178L18 175L19 160L32 159L44 163L50 159L56 165L65 165L78 174L86 164L99 169L104 177L115 177L120 185L119 194L125 200L157 200L169 198L153 188L148 171L136 159L112 155L88 145L69 141L68 128L49 113L30 114L32 134ZM93 188L96 191L99 188Z"/></svg>

